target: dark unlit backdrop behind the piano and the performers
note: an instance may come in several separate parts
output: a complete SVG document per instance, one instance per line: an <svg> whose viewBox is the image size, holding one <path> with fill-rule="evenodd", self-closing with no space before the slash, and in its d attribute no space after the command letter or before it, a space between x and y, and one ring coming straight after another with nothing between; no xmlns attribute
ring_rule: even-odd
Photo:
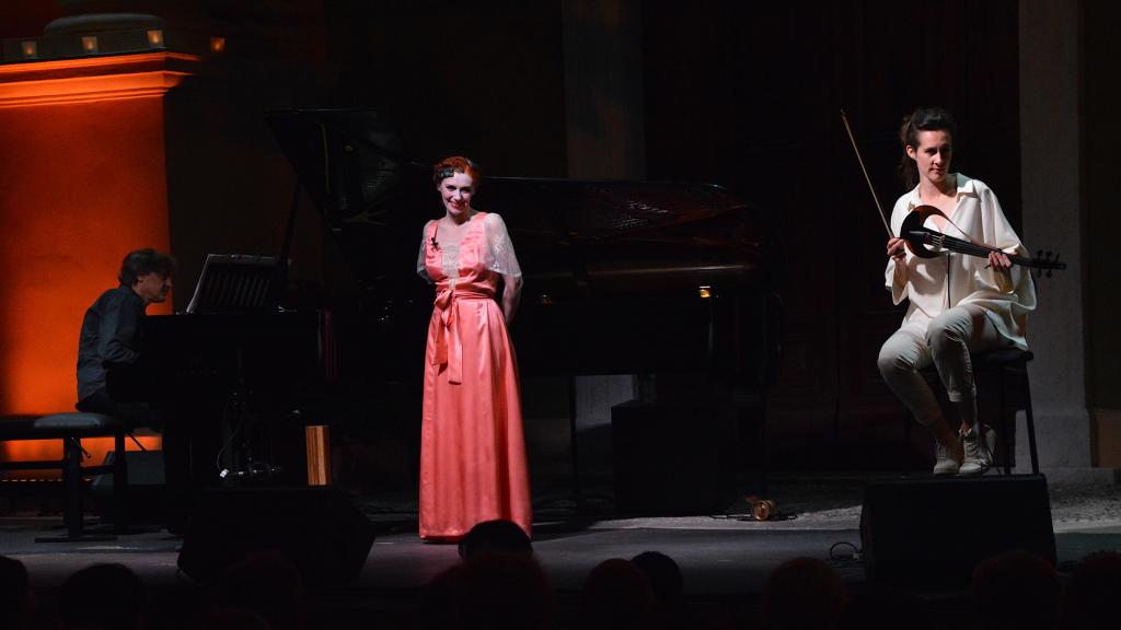
<svg viewBox="0 0 1121 630"><path fill-rule="evenodd" d="M265 124L270 109L382 106L414 159L430 164L464 154L488 175L501 176L580 172L569 164L568 130L594 122L566 106L566 94L589 71L566 68L566 9L559 0L34 4L0 10L0 35L36 35L62 15L128 10L158 13L169 28L228 38L224 57L168 98L168 187L173 248L184 267L180 287L194 285L207 252L279 248L294 173ZM601 12L587 28L606 37L641 34L636 67L646 177L721 184L766 211L777 229L780 249L772 263L784 299L784 354L768 416L769 457L781 467L893 465L898 460L884 445L898 441L901 413L874 358L902 313L882 287L886 234L840 111L847 112L890 212L902 192L896 178L901 118L919 105L948 108L960 130L954 168L986 182L1021 230L1020 164L1032 156L1019 149L1018 2L701 0L639 7L619 19ZM1121 16L1113 7L1085 2L1083 9L1087 98L1081 159L1084 197L1094 207L1085 217L1091 250L1104 249L1104 234L1117 223L1114 213L1099 210L1109 206L1115 168L1113 25ZM1081 211L1056 209L1072 214L1073 230L1082 229ZM434 198L416 212L436 216L439 210ZM323 299L360 302L361 282L306 198L297 225L295 278L316 287ZM1045 247L1047 234L1020 233L1029 245ZM1104 334L1117 306L1112 266L1088 251L1066 258L1086 261L1086 276L1095 278L1094 290L1086 291L1087 335L1097 331L1087 336L1091 406L1117 409L1121 393L1111 385L1121 349ZM188 298L179 290L176 305ZM402 402L387 413L408 416L409 409Z"/></svg>

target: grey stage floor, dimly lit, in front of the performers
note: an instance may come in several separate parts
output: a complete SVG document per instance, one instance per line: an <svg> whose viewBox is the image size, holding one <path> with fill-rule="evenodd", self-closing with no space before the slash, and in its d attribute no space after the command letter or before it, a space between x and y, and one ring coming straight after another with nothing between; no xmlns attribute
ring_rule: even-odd
<svg viewBox="0 0 1121 630"><path fill-rule="evenodd" d="M658 550L679 564L694 610L714 618L742 618L750 614L745 611L757 603L770 572L790 558L821 558L851 587L864 583L864 568L852 554L861 544L867 481L819 475L776 479L768 497L777 502L781 518L763 522L750 519L743 501L711 516L627 517L594 497L577 510L562 492L537 501L534 549L562 610L571 612L578 605L583 581L600 562ZM1121 488L1053 484L1049 495L1060 572L1092 552L1121 550ZM456 547L418 539L415 498L360 497L355 504L378 524L380 534L356 582L316 596L318 618L354 613L387 622L407 619L425 584L458 562ZM109 543L34 541L57 525L57 516L0 518L0 554L24 562L47 600L70 574L92 563L124 564L154 591L189 583L176 566L182 540L166 531ZM951 606L954 601L953 594L944 600Z"/></svg>

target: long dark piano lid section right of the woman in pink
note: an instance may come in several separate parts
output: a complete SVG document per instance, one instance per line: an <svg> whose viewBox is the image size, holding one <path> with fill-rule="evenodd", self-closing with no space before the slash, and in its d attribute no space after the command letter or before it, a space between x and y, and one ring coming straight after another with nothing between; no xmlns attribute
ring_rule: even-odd
<svg viewBox="0 0 1121 630"><path fill-rule="evenodd" d="M484 178L531 294L554 299L756 282L754 210L710 184ZM536 285L536 287L535 287Z"/></svg>

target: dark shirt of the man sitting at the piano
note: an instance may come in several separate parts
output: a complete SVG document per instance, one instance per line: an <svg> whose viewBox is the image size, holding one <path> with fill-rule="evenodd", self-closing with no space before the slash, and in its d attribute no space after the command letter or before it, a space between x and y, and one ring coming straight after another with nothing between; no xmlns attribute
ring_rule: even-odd
<svg viewBox="0 0 1121 630"><path fill-rule="evenodd" d="M77 399L81 405L105 389L105 364L131 364L140 358L143 298L121 285L101 294L85 312L77 342Z"/></svg>

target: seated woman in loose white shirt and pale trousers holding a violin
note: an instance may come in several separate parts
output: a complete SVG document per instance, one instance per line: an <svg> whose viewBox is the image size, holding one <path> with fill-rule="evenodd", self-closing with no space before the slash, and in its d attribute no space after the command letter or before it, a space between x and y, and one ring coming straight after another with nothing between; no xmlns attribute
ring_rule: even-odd
<svg viewBox="0 0 1121 630"><path fill-rule="evenodd" d="M924 258L899 238L888 240L886 285L895 304L909 302L902 325L880 349L883 380L936 441L936 475L983 474L992 465L995 434L978 419L970 352L1027 350L1027 314L1036 306L1031 275L1008 253L1026 253L997 195L980 179L949 169L954 121L941 108L904 119L900 174L908 187L891 211L891 233L918 206L938 209L924 226L999 251L988 258L952 251ZM925 253L925 252L924 252ZM955 433L918 373L934 363L961 419Z"/></svg>

